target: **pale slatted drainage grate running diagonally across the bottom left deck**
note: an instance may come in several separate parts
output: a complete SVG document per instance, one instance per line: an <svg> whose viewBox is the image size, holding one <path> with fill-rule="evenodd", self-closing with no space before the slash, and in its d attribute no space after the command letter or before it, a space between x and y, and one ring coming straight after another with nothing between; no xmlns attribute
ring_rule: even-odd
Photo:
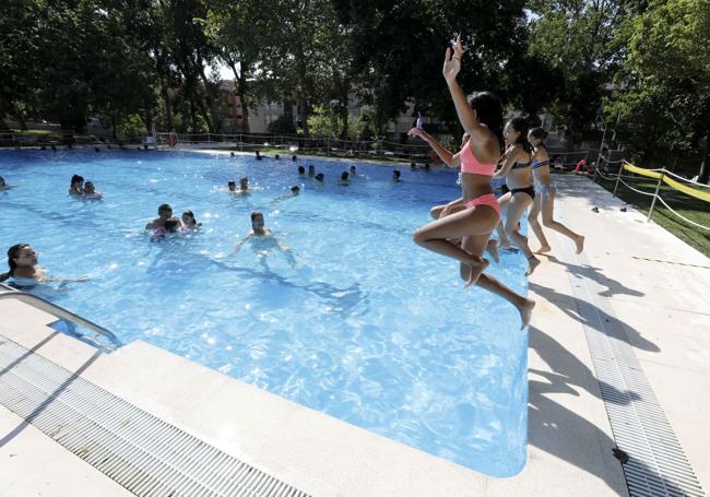
<svg viewBox="0 0 710 497"><path fill-rule="evenodd" d="M0 404L139 496L307 497L2 335Z"/></svg>

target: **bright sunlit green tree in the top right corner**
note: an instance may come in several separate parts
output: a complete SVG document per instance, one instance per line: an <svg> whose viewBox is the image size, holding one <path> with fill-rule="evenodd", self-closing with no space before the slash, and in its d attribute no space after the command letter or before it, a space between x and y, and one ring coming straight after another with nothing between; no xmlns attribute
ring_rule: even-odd
<svg viewBox="0 0 710 497"><path fill-rule="evenodd" d="M627 26L628 59L612 111L637 126L631 140L647 159L660 147L698 151L710 176L710 3L652 0Z"/></svg>

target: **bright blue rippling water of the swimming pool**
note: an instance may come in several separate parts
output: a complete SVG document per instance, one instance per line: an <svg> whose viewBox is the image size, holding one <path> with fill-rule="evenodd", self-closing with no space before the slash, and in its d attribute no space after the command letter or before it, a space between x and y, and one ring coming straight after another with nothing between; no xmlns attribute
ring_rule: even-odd
<svg viewBox="0 0 710 497"><path fill-rule="evenodd" d="M526 442L526 333L512 306L462 289L455 262L412 241L431 205L459 197L452 171L173 152L1 151L2 252L31 244L51 275L88 282L40 295L308 407L476 471L520 471ZM67 194L73 174L103 201ZM247 175L255 190L230 196ZM275 202L294 184L297 198ZM144 234L161 203L190 209L194 236ZM283 247L247 244L264 213ZM3 258L4 260L4 258ZM490 272L526 293L521 256ZM2 262L4 267L4 262ZM1 269L7 271L7 269Z"/></svg>

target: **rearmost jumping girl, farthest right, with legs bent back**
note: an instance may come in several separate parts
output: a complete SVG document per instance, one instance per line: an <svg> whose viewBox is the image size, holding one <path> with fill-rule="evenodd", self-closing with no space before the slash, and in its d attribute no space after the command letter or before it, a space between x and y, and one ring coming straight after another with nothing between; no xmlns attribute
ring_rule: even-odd
<svg viewBox="0 0 710 497"><path fill-rule="evenodd" d="M577 253L582 253L582 250L584 250L584 237L555 221L553 216L557 188L555 188L555 182L549 174L549 155L547 154L547 147L545 146L547 131L542 128L533 128L530 130L530 133L528 133L528 138L530 143L535 147L534 158L532 162L532 173L535 181L535 202L528 215L530 227L535 233L535 236L541 244L540 249L535 253L545 253L552 250L552 247L549 247L549 244L547 242L547 238L545 238L543 228L537 221L537 216L541 212L543 214L543 225L557 233L561 233L571 239L577 246Z"/></svg>

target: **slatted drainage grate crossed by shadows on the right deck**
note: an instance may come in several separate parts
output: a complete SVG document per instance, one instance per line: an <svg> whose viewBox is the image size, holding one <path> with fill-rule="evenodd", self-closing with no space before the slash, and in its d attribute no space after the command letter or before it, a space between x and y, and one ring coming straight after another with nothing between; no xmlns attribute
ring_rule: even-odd
<svg viewBox="0 0 710 497"><path fill-rule="evenodd" d="M564 247L567 260L577 259L589 265L584 255L572 255L567 240L560 240L559 246ZM583 273L570 272L569 279L614 440L628 454L623 469L629 495L703 497L623 323L610 306L596 298L591 289L594 283Z"/></svg>

